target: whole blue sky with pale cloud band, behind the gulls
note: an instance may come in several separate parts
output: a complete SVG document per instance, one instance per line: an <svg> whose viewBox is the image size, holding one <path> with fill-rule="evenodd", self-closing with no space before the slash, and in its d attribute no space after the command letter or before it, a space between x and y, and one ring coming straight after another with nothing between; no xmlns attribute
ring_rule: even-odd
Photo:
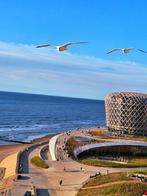
<svg viewBox="0 0 147 196"><path fill-rule="evenodd" d="M146 0L1 0L0 91L104 99L147 93ZM68 51L36 45L87 41Z"/></svg>

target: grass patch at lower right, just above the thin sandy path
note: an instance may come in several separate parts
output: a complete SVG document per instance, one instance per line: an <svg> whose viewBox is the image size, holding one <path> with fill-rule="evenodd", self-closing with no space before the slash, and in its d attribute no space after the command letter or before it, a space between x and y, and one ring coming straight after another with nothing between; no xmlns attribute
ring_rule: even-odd
<svg viewBox="0 0 147 196"><path fill-rule="evenodd" d="M122 180L126 181L126 180L132 180L132 179L127 177L126 172L117 172L117 173L111 173L111 174L102 175L102 176L98 176L96 178L90 179L86 184L83 185L83 187L98 186L101 184L122 181Z"/></svg>

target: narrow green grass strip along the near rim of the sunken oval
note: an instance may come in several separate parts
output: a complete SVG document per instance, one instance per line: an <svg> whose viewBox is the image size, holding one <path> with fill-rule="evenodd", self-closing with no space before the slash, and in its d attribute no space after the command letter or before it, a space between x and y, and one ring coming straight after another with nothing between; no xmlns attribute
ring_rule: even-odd
<svg viewBox="0 0 147 196"><path fill-rule="evenodd" d="M80 160L79 162L97 166L97 167L113 167L113 168L131 168L131 167L147 167L147 159L132 159L131 162L126 164L123 163L115 163L112 161L98 160L98 159L86 159Z"/></svg>

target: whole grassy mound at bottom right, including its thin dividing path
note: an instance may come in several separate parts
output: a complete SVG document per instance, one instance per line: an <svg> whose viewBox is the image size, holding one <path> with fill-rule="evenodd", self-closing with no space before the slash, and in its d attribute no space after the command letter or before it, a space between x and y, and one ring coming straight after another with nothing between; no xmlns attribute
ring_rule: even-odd
<svg viewBox="0 0 147 196"><path fill-rule="evenodd" d="M100 187L91 188L92 186ZM127 172L117 172L90 179L82 188L87 189L80 189L77 196L140 196L147 190L147 185L132 181L127 177Z"/></svg>

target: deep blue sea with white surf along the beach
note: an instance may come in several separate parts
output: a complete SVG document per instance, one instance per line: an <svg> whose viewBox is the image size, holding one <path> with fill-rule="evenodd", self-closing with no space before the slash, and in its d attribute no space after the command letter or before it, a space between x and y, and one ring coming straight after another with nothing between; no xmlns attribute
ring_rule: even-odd
<svg viewBox="0 0 147 196"><path fill-rule="evenodd" d="M0 144L105 127L103 100L0 92Z"/></svg>

